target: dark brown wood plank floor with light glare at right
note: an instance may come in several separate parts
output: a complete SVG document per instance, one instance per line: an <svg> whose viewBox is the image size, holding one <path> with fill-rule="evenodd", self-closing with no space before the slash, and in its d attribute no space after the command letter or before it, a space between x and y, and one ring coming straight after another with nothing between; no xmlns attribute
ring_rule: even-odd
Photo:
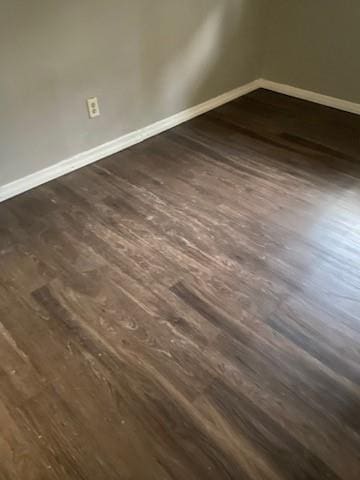
<svg viewBox="0 0 360 480"><path fill-rule="evenodd" d="M259 90L0 205L1 480L359 480L360 117Z"/></svg>

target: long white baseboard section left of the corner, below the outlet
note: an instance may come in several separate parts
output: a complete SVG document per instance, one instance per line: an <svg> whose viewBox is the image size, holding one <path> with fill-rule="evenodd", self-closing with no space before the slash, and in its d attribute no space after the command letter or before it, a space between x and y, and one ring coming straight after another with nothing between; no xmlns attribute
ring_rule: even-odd
<svg viewBox="0 0 360 480"><path fill-rule="evenodd" d="M246 95L247 93L250 93L258 88L258 80L247 83L246 85L235 88L234 90L212 98L211 100L201 103L200 105L196 105L195 107L191 107L180 113L176 113L171 117L141 128L140 130L128 133L116 138L115 140L104 143L103 145L99 145L91 150L87 150L79 153L78 155L74 155L71 158L67 158L66 160L58 162L55 165L51 165L50 167L20 178L19 180L2 185L0 186L0 202L84 167L85 165L89 165L101 160L102 158L108 157L109 155L120 152L121 150L125 150L126 148L140 143L147 138L158 135L165 130L169 130L180 123L186 122L194 117L197 117L198 115L220 107L221 105L231 102L232 100L235 100L242 95Z"/></svg>

